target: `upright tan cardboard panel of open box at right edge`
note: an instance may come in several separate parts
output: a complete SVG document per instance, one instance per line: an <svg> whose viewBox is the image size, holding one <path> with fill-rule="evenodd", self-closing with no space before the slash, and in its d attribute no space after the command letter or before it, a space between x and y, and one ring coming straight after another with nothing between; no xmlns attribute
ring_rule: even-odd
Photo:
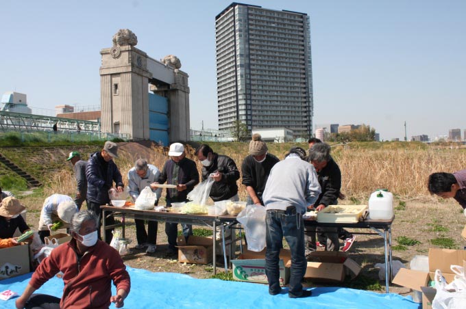
<svg viewBox="0 0 466 309"><path fill-rule="evenodd" d="M429 271L440 269L442 273L452 273L451 265L463 265L466 260L466 250L429 249Z"/></svg>

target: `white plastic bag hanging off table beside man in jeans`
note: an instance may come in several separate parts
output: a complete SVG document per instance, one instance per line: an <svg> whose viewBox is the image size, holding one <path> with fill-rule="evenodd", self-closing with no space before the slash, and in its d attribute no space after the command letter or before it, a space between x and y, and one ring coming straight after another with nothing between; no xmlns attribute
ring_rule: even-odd
<svg viewBox="0 0 466 309"><path fill-rule="evenodd" d="M247 250L260 252L265 248L265 207L247 205L236 220L245 228Z"/></svg>

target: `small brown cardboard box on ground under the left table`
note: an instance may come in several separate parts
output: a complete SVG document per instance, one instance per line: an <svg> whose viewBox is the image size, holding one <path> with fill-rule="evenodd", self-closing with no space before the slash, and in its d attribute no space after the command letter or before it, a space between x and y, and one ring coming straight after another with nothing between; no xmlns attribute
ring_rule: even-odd
<svg viewBox="0 0 466 309"><path fill-rule="evenodd" d="M216 244L217 245L217 244ZM177 238L178 262L208 264L212 262L212 237L184 236Z"/></svg>

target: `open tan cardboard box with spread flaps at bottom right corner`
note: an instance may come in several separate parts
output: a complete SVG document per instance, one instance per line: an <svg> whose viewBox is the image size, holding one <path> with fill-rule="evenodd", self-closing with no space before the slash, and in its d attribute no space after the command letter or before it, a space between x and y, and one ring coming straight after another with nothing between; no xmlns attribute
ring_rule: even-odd
<svg viewBox="0 0 466 309"><path fill-rule="evenodd" d="M436 290L429 287L429 282L434 280L436 269L440 269L447 283L454 280L455 273L452 273L451 265L465 265L466 250L450 250L450 249L429 249L429 272L416 271L413 269L400 269L393 283L406 288L411 288L415 291L422 292L422 308L432 308L432 299L435 296Z"/></svg>

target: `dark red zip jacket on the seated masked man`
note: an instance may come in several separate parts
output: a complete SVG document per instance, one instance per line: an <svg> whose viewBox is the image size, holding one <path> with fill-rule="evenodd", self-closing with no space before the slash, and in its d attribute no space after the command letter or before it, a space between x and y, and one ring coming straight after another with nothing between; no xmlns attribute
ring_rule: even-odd
<svg viewBox="0 0 466 309"><path fill-rule="evenodd" d="M48 258L42 260L29 284L40 288L59 271L63 273L64 282L60 308L108 308L112 296L111 280L116 291L123 288L130 293L130 275L121 256L100 240L80 261L75 239L56 247Z"/></svg>

